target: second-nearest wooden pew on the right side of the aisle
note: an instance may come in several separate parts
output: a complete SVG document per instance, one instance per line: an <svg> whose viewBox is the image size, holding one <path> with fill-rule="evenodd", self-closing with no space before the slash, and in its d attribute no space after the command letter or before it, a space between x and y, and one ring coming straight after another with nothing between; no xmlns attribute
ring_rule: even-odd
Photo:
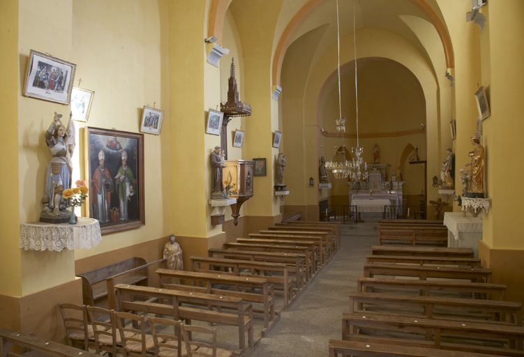
<svg viewBox="0 0 524 357"><path fill-rule="evenodd" d="M381 314L342 314L343 340L388 341L417 347L479 354L524 356L522 326L399 317ZM373 331L372 336L359 335ZM394 333L396 337L390 337ZM356 337L356 338L352 338ZM360 337L360 338L359 338ZM384 338L385 337L385 338ZM418 337L418 338L417 338ZM426 337L421 341L420 337ZM486 345L479 342L487 342ZM504 347L507 344L508 347Z"/></svg>

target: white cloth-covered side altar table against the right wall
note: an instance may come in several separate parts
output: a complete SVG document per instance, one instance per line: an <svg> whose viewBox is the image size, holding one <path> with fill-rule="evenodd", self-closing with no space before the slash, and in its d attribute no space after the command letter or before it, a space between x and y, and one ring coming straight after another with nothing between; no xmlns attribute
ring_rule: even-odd
<svg viewBox="0 0 524 357"><path fill-rule="evenodd" d="M482 220L471 213L464 217L463 212L444 213L444 226L447 227L447 246L450 248L472 248L479 257L479 241L482 240Z"/></svg>

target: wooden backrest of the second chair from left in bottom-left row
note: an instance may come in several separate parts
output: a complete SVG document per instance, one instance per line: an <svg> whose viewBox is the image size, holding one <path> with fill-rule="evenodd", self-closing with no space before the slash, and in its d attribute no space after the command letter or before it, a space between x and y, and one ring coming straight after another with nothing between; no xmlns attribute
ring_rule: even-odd
<svg viewBox="0 0 524 357"><path fill-rule="evenodd" d="M117 351L121 353L122 349L118 347L120 336L117 331L114 310L87 306L87 314L93 326L96 354L100 354L100 350L111 352L113 356L116 356Z"/></svg>

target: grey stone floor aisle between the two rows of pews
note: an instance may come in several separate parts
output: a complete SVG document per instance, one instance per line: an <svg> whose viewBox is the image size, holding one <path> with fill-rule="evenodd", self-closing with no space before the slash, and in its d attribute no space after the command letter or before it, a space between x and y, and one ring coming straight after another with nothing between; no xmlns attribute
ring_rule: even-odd
<svg viewBox="0 0 524 357"><path fill-rule="evenodd" d="M252 357L328 356L327 342L340 339L341 315L349 311L347 293L357 289L366 255L377 243L376 227L376 222L343 226L340 252L290 310L281 312L280 321L262 338Z"/></svg>

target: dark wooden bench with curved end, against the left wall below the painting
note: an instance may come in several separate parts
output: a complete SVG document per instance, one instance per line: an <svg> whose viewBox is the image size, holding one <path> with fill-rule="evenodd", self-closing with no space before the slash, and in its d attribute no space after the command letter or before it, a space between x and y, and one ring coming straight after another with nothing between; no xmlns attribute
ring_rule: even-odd
<svg viewBox="0 0 524 357"><path fill-rule="evenodd" d="M82 278L82 296L84 305L96 306L96 303L108 299L110 309L114 309L114 284L149 285L148 267L158 264L166 259L160 259L147 264L143 258L133 257L102 268L77 274ZM110 291L111 294L107 294Z"/></svg>

